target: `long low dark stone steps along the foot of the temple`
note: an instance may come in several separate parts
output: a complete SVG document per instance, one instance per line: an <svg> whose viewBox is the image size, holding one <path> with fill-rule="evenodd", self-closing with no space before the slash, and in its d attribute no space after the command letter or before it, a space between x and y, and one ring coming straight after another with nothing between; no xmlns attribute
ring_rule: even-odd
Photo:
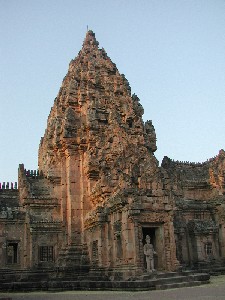
<svg viewBox="0 0 225 300"><path fill-rule="evenodd" d="M0 273L0 291L66 291L66 290L120 290L120 291L144 291L162 290L170 288L190 287L209 283L210 276L205 273L168 272L146 274L136 279L109 281L80 277L72 278L46 277L42 271Z"/></svg>

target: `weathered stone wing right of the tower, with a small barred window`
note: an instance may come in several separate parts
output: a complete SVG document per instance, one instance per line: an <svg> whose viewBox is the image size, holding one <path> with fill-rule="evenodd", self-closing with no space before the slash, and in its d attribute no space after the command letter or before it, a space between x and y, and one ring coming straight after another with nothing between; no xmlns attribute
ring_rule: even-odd
<svg viewBox="0 0 225 300"><path fill-rule="evenodd" d="M165 157L166 187L175 195L177 258L181 264L202 267L224 261L225 152L204 163L172 161Z"/></svg>

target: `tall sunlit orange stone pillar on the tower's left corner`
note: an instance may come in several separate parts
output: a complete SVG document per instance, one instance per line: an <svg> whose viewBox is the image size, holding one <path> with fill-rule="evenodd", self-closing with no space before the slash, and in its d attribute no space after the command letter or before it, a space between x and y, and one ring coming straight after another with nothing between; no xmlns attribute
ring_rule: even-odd
<svg viewBox="0 0 225 300"><path fill-rule="evenodd" d="M62 216L66 224L67 238L59 251L58 266L65 272L87 273L89 271L88 248L83 238L83 175L81 152L75 146L67 148L62 159L65 173L62 175ZM64 272L64 271L63 271ZM69 274L68 273L68 274Z"/></svg>

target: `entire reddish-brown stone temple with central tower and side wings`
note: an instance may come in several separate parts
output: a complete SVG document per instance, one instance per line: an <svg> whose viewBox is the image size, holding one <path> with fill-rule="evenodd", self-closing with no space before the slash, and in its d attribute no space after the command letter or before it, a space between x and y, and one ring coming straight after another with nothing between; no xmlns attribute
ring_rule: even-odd
<svg viewBox="0 0 225 300"><path fill-rule="evenodd" d="M1 274L137 278L146 236L157 271L224 264L225 151L159 166L143 112L88 31L50 111L38 170L21 164L18 187L1 184Z"/></svg>

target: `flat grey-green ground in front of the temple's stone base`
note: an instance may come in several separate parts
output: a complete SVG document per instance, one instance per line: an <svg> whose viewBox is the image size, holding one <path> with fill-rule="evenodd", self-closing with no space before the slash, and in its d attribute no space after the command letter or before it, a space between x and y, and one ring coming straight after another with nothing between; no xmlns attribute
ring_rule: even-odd
<svg viewBox="0 0 225 300"><path fill-rule="evenodd" d="M191 288L164 291L119 292L119 291L70 291L70 292L33 292L0 293L4 298L26 300L224 300L225 275L211 277L210 284Z"/></svg>

